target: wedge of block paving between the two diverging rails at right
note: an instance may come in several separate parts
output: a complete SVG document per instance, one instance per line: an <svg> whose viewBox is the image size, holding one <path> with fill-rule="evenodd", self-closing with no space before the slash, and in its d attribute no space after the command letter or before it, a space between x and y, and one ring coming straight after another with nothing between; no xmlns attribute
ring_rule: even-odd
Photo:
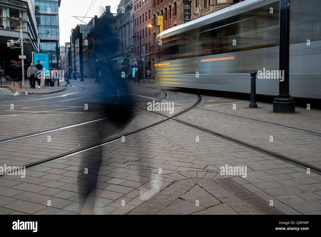
<svg viewBox="0 0 321 237"><path fill-rule="evenodd" d="M179 119L299 162L321 167L321 136L200 110L192 110L179 116ZM220 150L217 153L220 154ZM253 155L250 153L238 154L230 150L226 155L242 158L243 163L253 162ZM257 166L252 166L253 170L264 170L273 165L268 162L256 164Z"/></svg>

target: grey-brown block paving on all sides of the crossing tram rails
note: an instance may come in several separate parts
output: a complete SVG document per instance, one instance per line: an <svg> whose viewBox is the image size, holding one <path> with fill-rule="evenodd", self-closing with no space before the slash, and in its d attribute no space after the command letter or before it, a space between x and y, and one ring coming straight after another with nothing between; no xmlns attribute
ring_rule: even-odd
<svg viewBox="0 0 321 237"><path fill-rule="evenodd" d="M91 84L92 82L86 81L86 83ZM155 89L146 88L148 85L145 85L146 87L139 86L132 86L133 90L137 90L134 93L149 97L149 99L137 100L139 107L143 107L143 103L146 105L147 101L159 99L163 95L160 92L156 93ZM181 104L175 104L177 107L175 113L192 106L197 101L195 95L187 92L170 90L169 88L160 89L168 94L165 101ZM144 90L148 93L144 94ZM172 93L169 93L170 91ZM198 107L203 106L202 108L204 108L204 105L201 103ZM232 107L231 104L212 107L215 107L215 111L220 110L230 114L239 113L239 116L281 124L276 121L281 115L270 115L270 112L267 112L269 111L268 105L258 108L259 112L248 111L245 108L239 112L238 109L243 106L242 103L237 104L235 111L228 111L225 106ZM243 107L245 106L247 104L244 104ZM269 106L271 109L271 105ZM206 109L209 107L211 106L207 106ZM298 112L300 110L297 108ZM312 112L316 113L316 116L320 114L320 111L313 110ZM104 137L119 135L166 118L143 109L137 109L135 113L137 113L136 117L126 129L115 126L111 131L106 131ZM172 116L168 111L162 111L162 113ZM257 114L255 115L255 113ZM55 118L52 115L39 115L39 118L41 116L42 118L47 116L47 119ZM92 113L91 116L97 118L98 113ZM320 162L318 136L224 116L193 109L178 118L250 144L261 145L265 149L287 155L293 159L300 159L302 162L320 166L318 163ZM306 117L310 115L302 116L308 120ZM24 115L19 119L22 117L31 118L30 115ZM75 113L65 114L63 117L78 118L75 120L76 122L83 122L83 118L89 119L90 116ZM63 117L56 116L57 119ZM291 126L301 126L302 129L310 131L318 129L317 125L308 127L304 125L304 122L300 123L297 114L286 115L289 124L285 117L282 118L284 119L282 124L286 126L290 126L291 123ZM10 124L9 118L7 121L7 129L13 130L14 124ZM61 124L56 127L73 124L75 121L62 120ZM32 127L31 133L39 131L38 127L33 127L34 124L29 125ZM35 126L38 125L39 123ZM26 130L28 125L25 126ZM36 160L39 161L47 156L77 149L78 145L84 147L97 142L93 139L87 140L90 134L86 134L88 128L94 126L94 123L86 126L53 132L53 144L50 145L43 141L47 140L45 135L17 140L14 143L0 144L1 163L24 165ZM112 127L112 125L108 125L108 127ZM48 128L44 130L48 130ZM9 137L5 137L3 134L3 139L21 136L29 132L28 130L23 131L23 126L19 130L22 130L21 134L11 134ZM273 136L273 142L269 141L270 136ZM245 196L239 195L229 186L224 186L223 184L227 180L230 180L239 189L246 190L249 195L254 195L253 197L256 197L263 206L270 206L273 201L271 208L274 212L285 215L321 214L321 176L319 174L307 173L305 168L188 127L172 119L144 129L124 140L102 145L101 151L102 162L95 191L94 211L97 215L267 214L266 210L258 208ZM18 153L19 155L17 155ZM95 180L94 174L86 174L84 170L88 167L96 167L95 159L99 154L100 148L93 148L32 167L26 170L25 178L12 175L1 177L0 213L9 215L81 214L84 207L82 199L88 195L88 193L81 191L82 187L88 185L90 180ZM246 176L221 175L220 168L225 165L246 167ZM48 206L49 200L51 206Z"/></svg>

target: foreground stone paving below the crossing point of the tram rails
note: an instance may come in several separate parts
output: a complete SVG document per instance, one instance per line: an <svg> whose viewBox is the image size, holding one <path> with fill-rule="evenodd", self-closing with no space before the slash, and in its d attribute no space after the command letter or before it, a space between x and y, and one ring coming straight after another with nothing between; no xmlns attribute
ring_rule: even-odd
<svg viewBox="0 0 321 237"><path fill-rule="evenodd" d="M196 136L199 137L199 142L195 141ZM37 146L51 148L39 144ZM73 144L68 146L74 149ZM51 149L56 150L57 147ZM7 147L7 150L1 153L10 155L10 151L10 147ZM55 153L52 151L52 154ZM102 146L102 153L95 202L96 214L156 214L192 189L196 182L208 195L226 204L236 213L254 214L255 210L249 204L238 200L238 197L227 189L215 185L214 180L228 178L267 203L273 200L273 206L285 214L309 215L320 211L320 175L312 172L307 174L304 169L290 163L174 121L126 137L125 142L106 144ZM26 178L0 178L6 180L0 182L0 195L4 197L1 210L12 215L43 213L44 209L48 208L43 197L46 196L52 201L48 214L59 213L57 210L63 210L61 214L65 215L80 214L84 206L81 200L87 195L81 188L93 178L91 173L84 175L83 170L86 167L96 167L97 154L97 149L92 149L42 164L27 170ZM11 157L23 158L16 155L20 154ZM32 154L33 157L37 155L39 154ZM10 157L1 157L1 161L7 158ZM192 167L194 164L203 166ZM247 166L247 177L221 175L220 167L226 164ZM126 181L122 182L123 180ZM263 185L265 182L266 185ZM170 189L166 190L166 187ZM294 196L290 196L291 199L283 197L288 195ZM298 202L284 203L288 200ZM122 206L123 201L125 206ZM183 201L191 202L193 198ZM69 202L72 203L68 204ZM64 206L65 203L67 206ZM179 203L182 202L173 205ZM195 200L192 204L195 205ZM34 209L28 209L28 206L34 206ZM157 209L158 207L160 209ZM142 210L135 212L138 208Z"/></svg>

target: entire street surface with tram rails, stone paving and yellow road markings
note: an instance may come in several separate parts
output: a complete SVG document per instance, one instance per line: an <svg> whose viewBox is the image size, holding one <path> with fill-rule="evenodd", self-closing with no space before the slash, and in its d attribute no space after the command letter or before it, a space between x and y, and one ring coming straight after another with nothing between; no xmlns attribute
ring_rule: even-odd
<svg viewBox="0 0 321 237"><path fill-rule="evenodd" d="M3 95L0 166L29 168L0 178L0 213L82 214L92 202L96 215L321 214L321 176L307 171L321 168L320 110L276 114L266 102L250 109L154 81L128 86L127 123L105 119L92 79L50 95ZM173 113L147 110L161 99Z"/></svg>

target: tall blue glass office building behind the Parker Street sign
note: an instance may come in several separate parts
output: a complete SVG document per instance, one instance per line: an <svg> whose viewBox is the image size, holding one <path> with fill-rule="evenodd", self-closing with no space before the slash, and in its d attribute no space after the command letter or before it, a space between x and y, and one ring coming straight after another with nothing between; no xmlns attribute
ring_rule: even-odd
<svg viewBox="0 0 321 237"><path fill-rule="evenodd" d="M39 25L40 52L50 54L50 67L59 68L59 7L61 0L33 0ZM49 31L49 34L47 32ZM56 49L58 49L58 56Z"/></svg>

